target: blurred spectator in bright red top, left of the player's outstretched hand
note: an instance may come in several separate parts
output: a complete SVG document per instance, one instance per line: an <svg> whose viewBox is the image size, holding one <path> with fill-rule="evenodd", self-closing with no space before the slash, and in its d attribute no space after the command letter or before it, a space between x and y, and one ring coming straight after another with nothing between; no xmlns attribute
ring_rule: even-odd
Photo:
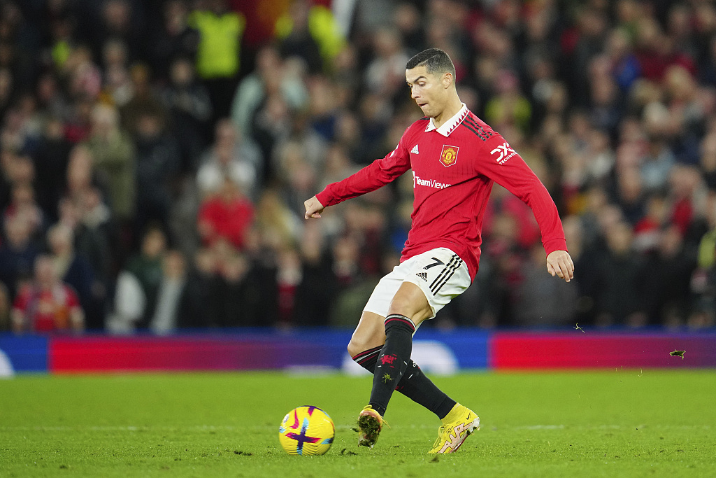
<svg viewBox="0 0 716 478"><path fill-rule="evenodd" d="M198 229L201 240L211 246L224 239L243 249L246 231L253 223L253 204L239 191L231 178L224 178L219 191L199 207Z"/></svg>

